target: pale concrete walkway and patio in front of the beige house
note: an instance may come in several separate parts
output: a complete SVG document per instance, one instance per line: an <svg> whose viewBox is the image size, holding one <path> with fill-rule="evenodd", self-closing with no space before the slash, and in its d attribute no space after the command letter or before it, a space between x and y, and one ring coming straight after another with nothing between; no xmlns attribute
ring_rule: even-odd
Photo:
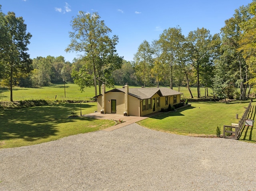
<svg viewBox="0 0 256 191"><path fill-rule="evenodd" d="M124 123L120 123L114 126L111 126L109 128L104 129L103 131L112 131L127 125L130 125L132 123L136 123L138 121L144 120L146 118L155 116L157 114L159 114L160 112L154 112L152 114L146 115L146 116L142 116L142 117L138 117L138 116L123 116L123 115L118 115L118 114L101 114L101 113L91 113L91 114L86 114L83 115L84 117L93 117L93 118L99 118L99 119L108 119L108 120L122 120L124 121Z"/></svg>

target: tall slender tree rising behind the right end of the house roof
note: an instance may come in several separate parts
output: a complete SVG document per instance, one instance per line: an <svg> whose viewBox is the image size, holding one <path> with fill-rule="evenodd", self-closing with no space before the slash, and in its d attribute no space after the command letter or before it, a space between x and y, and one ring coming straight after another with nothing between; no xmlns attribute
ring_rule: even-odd
<svg viewBox="0 0 256 191"><path fill-rule="evenodd" d="M178 63L178 54L181 51L182 43L184 43L184 35L181 28L168 28L160 35L159 43L162 48L161 58L164 63L164 71L168 73L170 80L170 89L173 86L173 69Z"/></svg>

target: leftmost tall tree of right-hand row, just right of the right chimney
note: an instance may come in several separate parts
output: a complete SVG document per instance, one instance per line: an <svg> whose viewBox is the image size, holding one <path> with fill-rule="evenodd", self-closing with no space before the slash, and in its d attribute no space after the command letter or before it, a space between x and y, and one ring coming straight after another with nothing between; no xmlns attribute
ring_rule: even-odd
<svg viewBox="0 0 256 191"><path fill-rule="evenodd" d="M150 82L151 74L150 71L153 66L153 50L148 43L148 41L144 40L138 47L138 51L134 55L134 65L136 76L141 79L144 83L144 87L146 84Z"/></svg>

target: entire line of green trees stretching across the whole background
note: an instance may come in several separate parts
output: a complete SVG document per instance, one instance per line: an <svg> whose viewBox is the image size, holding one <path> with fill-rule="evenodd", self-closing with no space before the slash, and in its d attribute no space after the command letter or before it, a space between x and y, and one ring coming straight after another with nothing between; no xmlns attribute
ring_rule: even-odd
<svg viewBox="0 0 256 191"><path fill-rule="evenodd" d="M1 10L1 9L0 9ZM80 11L72 19L71 42L66 51L80 52L72 63L64 57L37 57L26 53L30 33L22 17L13 12L0 11L0 80L1 85L23 87L47 86L50 83L74 82L80 90L100 85L191 86L197 87L197 97L239 97L246 100L255 86L256 0L235 10L225 21L220 33L211 35L205 28L197 28L185 37L177 26L168 28L152 42L144 40L134 54L133 61L125 61L116 53L118 36L104 24L97 12ZM99 88L97 90L97 87ZM236 89L240 91L237 92ZM247 94L246 94L247 93ZM190 96L193 95L190 91Z"/></svg>

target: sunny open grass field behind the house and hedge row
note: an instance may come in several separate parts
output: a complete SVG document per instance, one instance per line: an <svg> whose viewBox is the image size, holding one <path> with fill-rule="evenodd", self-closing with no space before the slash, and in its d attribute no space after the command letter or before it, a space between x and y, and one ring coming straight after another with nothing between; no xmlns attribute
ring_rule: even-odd
<svg viewBox="0 0 256 191"><path fill-rule="evenodd" d="M122 86L116 86L120 88ZM138 88L132 87L130 88ZM89 100L93 98L94 95L94 87L85 88L84 92L80 92L80 88L76 84L66 84L66 98L63 84L52 84L50 86L41 87L41 88L13 88L13 100L38 100L38 99L46 99L46 100L54 100L55 97L58 100L66 99L66 100ZM106 91L110 90L106 88ZM174 90L178 91L178 87L174 87ZM197 96L197 89L195 87L191 88L193 96ZM188 89L185 87L180 87L180 92L184 93L182 97L190 97ZM212 90L209 89L209 95L212 93ZM204 88L201 88L201 94L204 96ZM9 101L10 100L10 91L7 88L0 88L0 101Z"/></svg>

